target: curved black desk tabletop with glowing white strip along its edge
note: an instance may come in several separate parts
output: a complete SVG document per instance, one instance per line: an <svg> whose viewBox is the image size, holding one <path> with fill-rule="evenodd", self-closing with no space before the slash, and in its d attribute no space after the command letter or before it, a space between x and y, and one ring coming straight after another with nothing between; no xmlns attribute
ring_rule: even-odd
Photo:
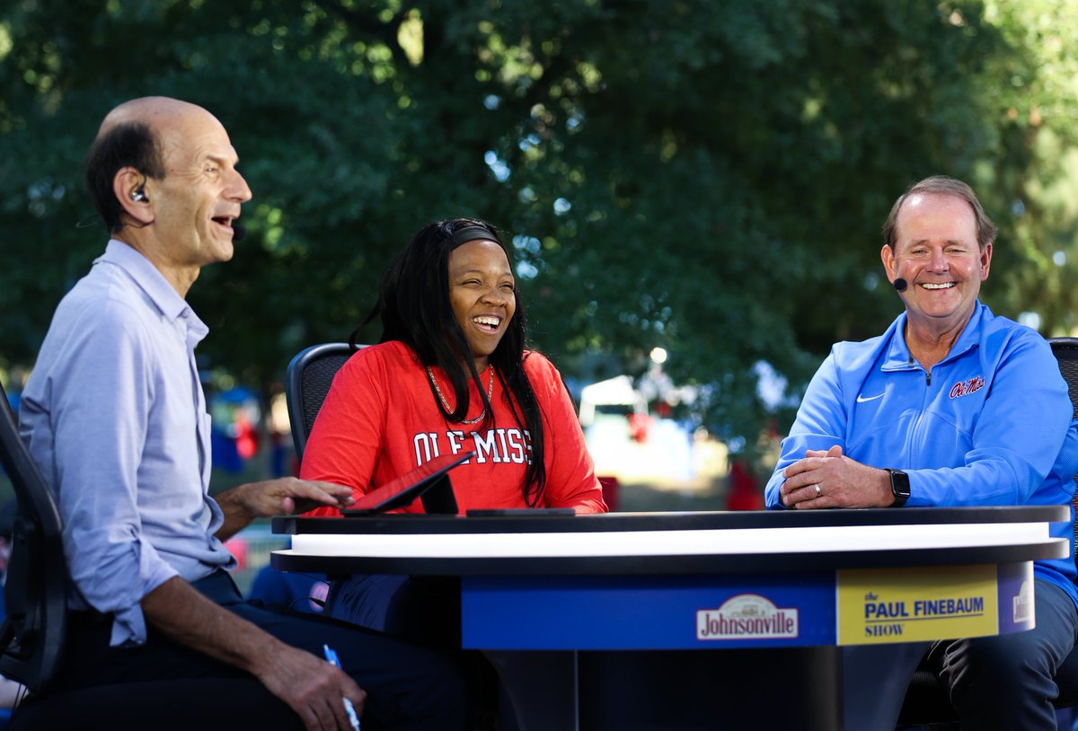
<svg viewBox="0 0 1078 731"><path fill-rule="evenodd" d="M644 575L999 564L1059 558L1065 507L276 519L285 570ZM317 568L316 568L317 566Z"/></svg>

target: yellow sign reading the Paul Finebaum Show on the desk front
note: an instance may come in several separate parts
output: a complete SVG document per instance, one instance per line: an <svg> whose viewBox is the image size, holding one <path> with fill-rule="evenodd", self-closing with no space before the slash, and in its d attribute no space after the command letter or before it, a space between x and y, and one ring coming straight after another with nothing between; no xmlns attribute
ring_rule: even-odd
<svg viewBox="0 0 1078 731"><path fill-rule="evenodd" d="M876 645L997 634L996 583L996 566L991 564L840 570L839 644ZM983 611L976 616L926 616L924 607L916 604L949 598L967 604L980 599ZM866 617L866 606L870 603L874 607Z"/></svg>

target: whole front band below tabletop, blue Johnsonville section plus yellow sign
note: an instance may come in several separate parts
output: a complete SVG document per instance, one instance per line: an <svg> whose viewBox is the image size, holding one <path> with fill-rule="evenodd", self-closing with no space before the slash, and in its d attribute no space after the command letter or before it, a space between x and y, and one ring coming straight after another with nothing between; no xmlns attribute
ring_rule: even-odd
<svg viewBox="0 0 1078 731"><path fill-rule="evenodd" d="M977 581L964 585L966 577ZM758 577L466 576L462 645L701 650L1007 634L1033 626L1032 584L1027 562Z"/></svg>

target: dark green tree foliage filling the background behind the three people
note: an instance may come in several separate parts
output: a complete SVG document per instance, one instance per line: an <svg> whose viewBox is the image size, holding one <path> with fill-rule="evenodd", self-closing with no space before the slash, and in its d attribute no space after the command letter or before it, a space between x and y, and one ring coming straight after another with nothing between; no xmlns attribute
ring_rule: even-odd
<svg viewBox="0 0 1078 731"><path fill-rule="evenodd" d="M278 378L347 335L413 231L479 216L514 242L555 362L639 372L662 346L708 426L752 435L775 418L755 363L796 397L831 342L898 313L879 229L927 175L972 182L1003 225L990 302L1072 323L1072 4L16 0L0 353L32 360L102 248L77 226L100 119L165 94L224 122L254 191L248 239L191 293L215 364Z"/></svg>

